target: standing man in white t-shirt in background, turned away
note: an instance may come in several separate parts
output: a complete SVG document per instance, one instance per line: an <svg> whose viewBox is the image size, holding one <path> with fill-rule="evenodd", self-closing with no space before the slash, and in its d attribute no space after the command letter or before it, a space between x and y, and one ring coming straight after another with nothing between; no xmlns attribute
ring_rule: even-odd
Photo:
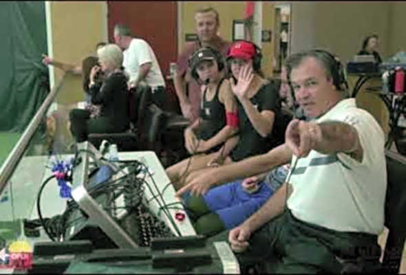
<svg viewBox="0 0 406 275"><path fill-rule="evenodd" d="M131 30L121 24L114 25L114 42L123 50L122 66L129 77L129 87L148 85L153 101L162 107L165 80L151 46L144 39L133 37Z"/></svg>

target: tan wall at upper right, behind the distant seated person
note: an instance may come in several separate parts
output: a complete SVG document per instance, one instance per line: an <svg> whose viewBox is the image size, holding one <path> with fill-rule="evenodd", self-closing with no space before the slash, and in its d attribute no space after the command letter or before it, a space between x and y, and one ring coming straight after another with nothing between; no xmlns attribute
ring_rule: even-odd
<svg viewBox="0 0 406 275"><path fill-rule="evenodd" d="M322 47L350 60L363 38L378 34L383 58L406 50L406 2L292 1L291 53Z"/></svg>

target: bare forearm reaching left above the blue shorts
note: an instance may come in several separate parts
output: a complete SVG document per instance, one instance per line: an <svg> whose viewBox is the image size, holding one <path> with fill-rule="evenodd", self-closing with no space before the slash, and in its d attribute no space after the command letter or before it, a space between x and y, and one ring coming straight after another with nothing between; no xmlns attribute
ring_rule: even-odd
<svg viewBox="0 0 406 275"><path fill-rule="evenodd" d="M235 179L243 179L266 173L277 166L287 164L291 157L292 152L288 146L282 144L266 154L256 155L243 159L240 162L216 168L210 175L210 181L215 184L224 184L224 182L233 181Z"/></svg>

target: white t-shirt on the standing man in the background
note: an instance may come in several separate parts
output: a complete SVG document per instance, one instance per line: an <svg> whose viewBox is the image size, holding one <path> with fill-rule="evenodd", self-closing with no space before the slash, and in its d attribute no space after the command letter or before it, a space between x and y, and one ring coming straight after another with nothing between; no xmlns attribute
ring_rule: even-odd
<svg viewBox="0 0 406 275"><path fill-rule="evenodd" d="M162 76L159 63L147 41L133 38L129 44L129 47L124 50L122 54L124 57L122 66L129 76L129 82L135 81L138 78L140 65L151 62L151 69L149 70L147 76L145 76L144 84L152 88L158 86L165 87L165 81L164 77Z"/></svg>

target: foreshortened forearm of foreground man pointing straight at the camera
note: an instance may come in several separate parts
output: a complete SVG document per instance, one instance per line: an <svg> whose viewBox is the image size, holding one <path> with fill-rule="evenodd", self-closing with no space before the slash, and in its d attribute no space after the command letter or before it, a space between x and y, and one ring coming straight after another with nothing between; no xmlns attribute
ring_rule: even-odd
<svg viewBox="0 0 406 275"><path fill-rule="evenodd" d="M337 152L352 153L361 148L356 130L344 122L321 122L321 140L315 144L315 151L324 154Z"/></svg>

